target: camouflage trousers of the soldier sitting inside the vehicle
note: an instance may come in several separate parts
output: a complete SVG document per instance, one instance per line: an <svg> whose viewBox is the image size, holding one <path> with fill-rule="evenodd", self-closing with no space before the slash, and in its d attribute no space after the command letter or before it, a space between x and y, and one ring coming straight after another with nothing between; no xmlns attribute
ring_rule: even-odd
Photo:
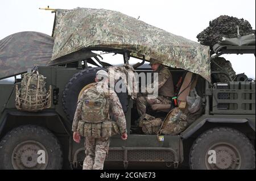
<svg viewBox="0 0 256 181"><path fill-rule="evenodd" d="M171 100L162 95L159 95L156 99L150 99L147 96L139 96L136 99L136 103L139 116L142 116L146 113L148 106L152 106L153 104L171 104Z"/></svg>

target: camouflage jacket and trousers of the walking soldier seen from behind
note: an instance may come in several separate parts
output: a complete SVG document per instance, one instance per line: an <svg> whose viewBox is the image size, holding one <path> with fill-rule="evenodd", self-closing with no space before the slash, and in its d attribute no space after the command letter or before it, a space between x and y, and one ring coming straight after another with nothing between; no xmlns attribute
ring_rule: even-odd
<svg viewBox="0 0 256 181"><path fill-rule="evenodd" d="M97 84L95 85L97 86ZM79 120L82 119L82 102L84 99L86 90L81 95L80 100L77 103L77 108L73 120L72 131L77 131L77 126ZM120 134L123 134L126 131L126 120L125 114L123 113L121 103L119 102L117 94L114 91L110 91L109 97L109 113L113 116L114 120L117 122L119 127ZM86 120L84 120L86 121ZM85 137L85 159L84 165L82 169L84 170L102 170L106 155L108 154L109 150L109 142L110 137L101 137L101 138L94 138L94 137Z"/></svg>

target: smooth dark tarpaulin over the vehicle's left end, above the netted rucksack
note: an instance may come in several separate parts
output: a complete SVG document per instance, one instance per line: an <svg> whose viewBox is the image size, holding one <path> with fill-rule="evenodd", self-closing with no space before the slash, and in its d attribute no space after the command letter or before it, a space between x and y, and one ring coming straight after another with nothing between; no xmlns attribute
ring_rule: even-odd
<svg viewBox="0 0 256 181"><path fill-rule="evenodd" d="M0 40L0 79L44 66L51 61L53 38L39 32L19 32Z"/></svg>

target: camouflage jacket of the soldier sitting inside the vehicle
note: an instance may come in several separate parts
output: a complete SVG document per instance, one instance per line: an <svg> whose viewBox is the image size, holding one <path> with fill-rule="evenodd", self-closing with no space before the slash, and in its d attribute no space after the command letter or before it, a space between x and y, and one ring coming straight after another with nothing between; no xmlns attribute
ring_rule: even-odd
<svg viewBox="0 0 256 181"><path fill-rule="evenodd" d="M170 70L160 65L158 70L154 71L154 73L158 73L158 95L167 97L174 96L174 83ZM152 92L152 90L147 88L147 94L150 94L150 92Z"/></svg>

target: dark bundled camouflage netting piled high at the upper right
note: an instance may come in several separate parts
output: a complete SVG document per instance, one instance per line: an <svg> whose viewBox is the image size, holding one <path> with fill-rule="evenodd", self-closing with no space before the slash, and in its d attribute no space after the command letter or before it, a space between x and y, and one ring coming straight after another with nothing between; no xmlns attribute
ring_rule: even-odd
<svg viewBox="0 0 256 181"><path fill-rule="evenodd" d="M251 28L247 20L222 15L210 21L209 27L196 37L202 45L208 45L212 48L214 44L222 40L222 37L237 37L237 26L239 26L241 36L255 34L255 30Z"/></svg>

